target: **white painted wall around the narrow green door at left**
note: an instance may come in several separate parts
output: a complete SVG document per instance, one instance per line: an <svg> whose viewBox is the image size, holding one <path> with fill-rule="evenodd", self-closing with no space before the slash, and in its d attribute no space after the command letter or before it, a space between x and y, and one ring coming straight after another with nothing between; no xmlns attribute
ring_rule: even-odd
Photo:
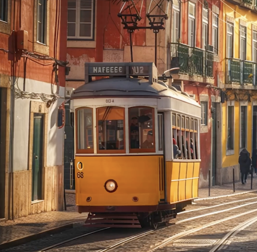
<svg viewBox="0 0 257 252"><path fill-rule="evenodd" d="M23 78L19 78L16 88L18 86L23 88ZM51 94L51 84L32 79L26 79L26 92ZM54 86L54 92L56 86ZM59 96L65 96L65 88L60 87ZM30 98L15 98L14 108L14 172L28 169L28 153L29 153L29 124L30 124L30 101L41 101L40 99ZM64 98L52 104L49 108L48 114L48 140L47 140L47 162L45 166L62 165L63 163L63 138L64 127L58 129L57 111L59 105L64 101Z"/></svg>

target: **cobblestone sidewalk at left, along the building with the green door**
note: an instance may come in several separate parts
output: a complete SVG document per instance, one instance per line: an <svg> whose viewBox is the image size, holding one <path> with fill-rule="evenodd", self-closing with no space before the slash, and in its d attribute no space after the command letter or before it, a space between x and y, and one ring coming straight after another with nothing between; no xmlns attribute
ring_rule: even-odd
<svg viewBox="0 0 257 252"><path fill-rule="evenodd" d="M14 221L0 221L0 244L69 223L85 221L87 214L76 212L75 194L66 194L66 202L67 211L43 212Z"/></svg>

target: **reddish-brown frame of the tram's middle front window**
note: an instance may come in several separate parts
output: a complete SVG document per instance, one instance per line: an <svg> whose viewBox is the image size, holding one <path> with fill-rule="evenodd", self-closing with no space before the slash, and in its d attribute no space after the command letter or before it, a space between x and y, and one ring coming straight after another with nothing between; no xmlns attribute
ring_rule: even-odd
<svg viewBox="0 0 257 252"><path fill-rule="evenodd" d="M122 109L123 110L123 147L124 149L116 149L116 150L100 150L99 149L99 121L103 121L103 120L99 120L99 111L101 109L104 108L108 108L111 107L111 109ZM108 120L104 120L104 121L108 121ZM112 121L112 120L109 120ZM114 120L115 121L115 120ZM97 107L96 108L96 137L97 137L97 154L120 154L120 153L126 153L126 132L125 132L125 107L120 107L120 106L103 106L103 107Z"/></svg>

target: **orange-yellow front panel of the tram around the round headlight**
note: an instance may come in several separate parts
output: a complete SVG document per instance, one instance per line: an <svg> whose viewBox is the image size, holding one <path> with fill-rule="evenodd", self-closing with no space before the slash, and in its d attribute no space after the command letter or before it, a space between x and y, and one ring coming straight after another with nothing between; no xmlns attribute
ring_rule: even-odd
<svg viewBox="0 0 257 252"><path fill-rule="evenodd" d="M158 205L159 158L162 156L76 156L76 204L80 206ZM77 163L82 163L82 170ZM83 172L83 178L78 177ZM117 190L109 193L104 184L117 182ZM132 198L139 198L134 202ZM91 201L87 202L87 197Z"/></svg>

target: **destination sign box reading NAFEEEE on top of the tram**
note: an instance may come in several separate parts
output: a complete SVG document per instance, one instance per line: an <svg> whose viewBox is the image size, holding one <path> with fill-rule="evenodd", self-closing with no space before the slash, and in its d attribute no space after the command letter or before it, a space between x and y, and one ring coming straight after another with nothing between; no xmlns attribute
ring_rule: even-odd
<svg viewBox="0 0 257 252"><path fill-rule="evenodd" d="M89 76L149 76L151 80L157 75L153 62L86 62L85 83ZM154 77L155 78L155 77Z"/></svg>

